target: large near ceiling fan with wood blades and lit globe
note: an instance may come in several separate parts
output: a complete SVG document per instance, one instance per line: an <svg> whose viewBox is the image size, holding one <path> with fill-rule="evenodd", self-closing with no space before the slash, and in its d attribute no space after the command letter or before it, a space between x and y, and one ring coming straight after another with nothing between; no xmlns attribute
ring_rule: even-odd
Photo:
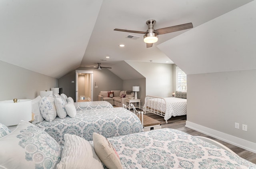
<svg viewBox="0 0 256 169"><path fill-rule="evenodd" d="M193 24L191 22L187 23L187 24L170 26L167 28L160 28L157 30L154 30L154 25L156 24L155 20L148 20L146 22L146 24L148 25L148 30L146 32L135 31L135 30L125 30L125 29L114 29L114 30L121 31L121 32L144 34L144 42L147 44L147 48L150 48L153 46L153 43L158 41L158 35L168 34L171 32L177 32L180 30L186 30L186 29L193 28Z"/></svg>

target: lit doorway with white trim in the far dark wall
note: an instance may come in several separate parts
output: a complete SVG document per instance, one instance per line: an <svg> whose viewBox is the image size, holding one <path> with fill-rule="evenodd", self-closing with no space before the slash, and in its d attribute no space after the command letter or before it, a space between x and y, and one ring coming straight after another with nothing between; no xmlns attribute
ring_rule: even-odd
<svg viewBox="0 0 256 169"><path fill-rule="evenodd" d="M76 102L93 101L93 71L76 70Z"/></svg>

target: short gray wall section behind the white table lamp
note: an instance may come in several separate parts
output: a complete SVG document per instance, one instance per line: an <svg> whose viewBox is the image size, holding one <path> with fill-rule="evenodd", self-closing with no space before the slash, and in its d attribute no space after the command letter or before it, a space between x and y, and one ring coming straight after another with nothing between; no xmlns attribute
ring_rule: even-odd
<svg viewBox="0 0 256 169"><path fill-rule="evenodd" d="M132 86L140 86L140 91L137 92L137 95L138 99L140 99L140 107L142 109L146 96L146 78L123 81L123 90L132 90Z"/></svg>

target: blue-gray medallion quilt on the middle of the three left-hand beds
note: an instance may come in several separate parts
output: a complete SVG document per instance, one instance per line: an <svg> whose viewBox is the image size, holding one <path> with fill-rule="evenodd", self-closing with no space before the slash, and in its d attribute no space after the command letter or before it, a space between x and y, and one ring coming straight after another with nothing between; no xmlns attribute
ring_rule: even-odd
<svg viewBox="0 0 256 169"><path fill-rule="evenodd" d="M94 132L108 138L143 131L140 119L123 107L77 111L74 118L56 117L51 122L44 120L35 125L44 128L44 131L62 146L64 146L66 133L91 141Z"/></svg>

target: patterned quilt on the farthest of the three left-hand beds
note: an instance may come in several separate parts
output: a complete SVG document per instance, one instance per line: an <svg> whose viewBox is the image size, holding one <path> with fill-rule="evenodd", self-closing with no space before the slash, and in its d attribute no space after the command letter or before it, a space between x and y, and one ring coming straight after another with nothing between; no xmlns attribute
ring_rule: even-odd
<svg viewBox="0 0 256 169"><path fill-rule="evenodd" d="M90 110L90 109L102 109L102 108L113 108L108 101L86 101L86 102L75 102L76 110Z"/></svg>

